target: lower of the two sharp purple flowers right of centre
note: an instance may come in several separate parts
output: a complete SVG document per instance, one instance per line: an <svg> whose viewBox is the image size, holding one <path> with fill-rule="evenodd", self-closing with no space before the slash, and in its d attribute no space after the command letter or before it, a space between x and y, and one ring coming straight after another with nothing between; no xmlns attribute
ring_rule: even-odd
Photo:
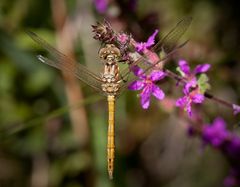
<svg viewBox="0 0 240 187"><path fill-rule="evenodd" d="M185 93L186 95L179 98L176 101L176 106L181 107L187 111L189 116L192 116L192 104L202 103L204 101L204 95L198 93L198 90L194 90L190 93Z"/></svg>

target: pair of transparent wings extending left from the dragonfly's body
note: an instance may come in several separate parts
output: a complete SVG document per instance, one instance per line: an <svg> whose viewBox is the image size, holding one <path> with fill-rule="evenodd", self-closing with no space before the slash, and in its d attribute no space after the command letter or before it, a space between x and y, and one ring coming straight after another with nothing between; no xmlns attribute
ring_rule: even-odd
<svg viewBox="0 0 240 187"><path fill-rule="evenodd" d="M42 55L38 55L37 57L41 62L48 64L50 66L53 66L62 71L71 73L74 76L76 76L79 80L81 80L82 82L88 84L95 90L103 93L102 89L101 89L102 80L98 75L96 75L95 73L88 70L82 64L75 62L73 59L71 59L71 58L67 57L66 55L62 54L61 52L59 52L57 49L52 47L45 40L40 38L37 34L30 32L30 31L28 31L27 34L35 42L37 42L40 46L42 46L44 49L46 49L53 57L53 60L52 60L52 59L46 58Z"/></svg>

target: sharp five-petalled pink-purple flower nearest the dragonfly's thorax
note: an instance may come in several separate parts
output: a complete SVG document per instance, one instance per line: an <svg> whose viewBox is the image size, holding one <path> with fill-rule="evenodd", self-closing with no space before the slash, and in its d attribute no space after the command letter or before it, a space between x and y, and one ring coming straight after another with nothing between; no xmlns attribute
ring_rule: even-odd
<svg viewBox="0 0 240 187"><path fill-rule="evenodd" d="M162 100L164 98L164 92L155 85L156 81L165 77L165 73L163 71L154 70L149 75L145 75L143 70L138 66L134 66L132 71L137 77L139 77L140 80L132 82L128 86L128 89L142 90L140 93L142 108L147 109L149 107L151 95L155 96L158 100Z"/></svg>

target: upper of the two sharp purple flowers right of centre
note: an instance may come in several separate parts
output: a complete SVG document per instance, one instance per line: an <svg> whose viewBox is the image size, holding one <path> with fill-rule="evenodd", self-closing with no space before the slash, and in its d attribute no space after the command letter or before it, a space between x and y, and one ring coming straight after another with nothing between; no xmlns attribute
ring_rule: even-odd
<svg viewBox="0 0 240 187"><path fill-rule="evenodd" d="M187 83L184 85L184 92L188 93L191 88L196 88L198 86L196 75L200 73L205 73L211 67L210 64L200 64L191 72L190 67L185 60L180 60L178 62L179 69L182 77L185 78Z"/></svg>

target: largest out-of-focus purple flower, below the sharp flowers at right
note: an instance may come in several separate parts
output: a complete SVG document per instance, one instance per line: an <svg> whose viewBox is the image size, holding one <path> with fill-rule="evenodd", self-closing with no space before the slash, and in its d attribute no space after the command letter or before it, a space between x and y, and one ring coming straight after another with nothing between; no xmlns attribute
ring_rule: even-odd
<svg viewBox="0 0 240 187"><path fill-rule="evenodd" d="M215 148L223 146L230 133L226 129L225 121L222 118L216 118L212 125L204 125L202 139L205 144L211 144Z"/></svg>

